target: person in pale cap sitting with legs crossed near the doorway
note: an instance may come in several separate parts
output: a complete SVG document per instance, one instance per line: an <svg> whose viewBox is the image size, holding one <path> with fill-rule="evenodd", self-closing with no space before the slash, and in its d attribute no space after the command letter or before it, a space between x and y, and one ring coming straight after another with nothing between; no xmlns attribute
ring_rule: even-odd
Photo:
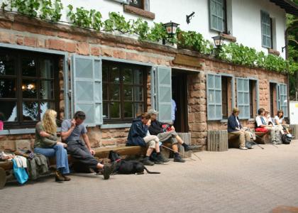
<svg viewBox="0 0 298 213"><path fill-rule="evenodd" d="M184 151L190 151L194 148L197 148L198 146L188 146L184 141L182 141L182 138L178 136L177 132L175 131L174 126L170 126L170 124L162 123L157 120L158 111L155 109L150 109L148 111L148 114L151 116L151 125L149 126L149 132L151 135L158 136L160 139L160 142L170 141L172 143L172 149L174 152L174 161L184 163L185 160L183 160L178 153L178 146L177 144L180 143L184 147ZM163 125L170 126L170 131L164 131L162 128Z"/></svg>

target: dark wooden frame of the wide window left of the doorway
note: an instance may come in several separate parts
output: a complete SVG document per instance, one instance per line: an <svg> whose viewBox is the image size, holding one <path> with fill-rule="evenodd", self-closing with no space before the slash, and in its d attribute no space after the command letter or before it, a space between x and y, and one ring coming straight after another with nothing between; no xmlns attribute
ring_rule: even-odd
<svg viewBox="0 0 298 213"><path fill-rule="evenodd" d="M132 63L129 63L129 62L119 62L119 61L114 61L114 60L102 60L102 72L104 72L104 65L108 65L108 67L110 66L113 66L113 65L117 65L120 70L119 70L119 75L120 75L120 81L119 81L119 91L120 91L120 94L119 94L119 100L116 101L116 102L119 102L120 103L120 118L115 118L115 119L111 119L111 118L105 118L103 117L103 121L104 121L104 124L125 124L127 122L131 122L131 120L133 118L136 117L136 114L133 114L133 116L131 118L124 118L124 102L126 102L124 100L124 94L123 94L123 86L125 84L123 84L123 73L122 73L122 70L125 68L125 67L132 67L133 70L136 69L136 67L138 67L140 70L142 70L143 72L143 84L129 84L131 85L132 87L141 87L143 88L143 102L140 102L140 101L135 101L133 100L132 103L133 104L136 104L136 103L142 103L143 104L143 111L145 111L145 109L147 109L147 97L148 97L148 89L147 89L147 77L148 77L148 68L145 67L144 65L139 65L139 64L132 64ZM108 71L109 72L109 71ZM104 100L104 87L107 86L107 91L109 90L109 87L110 87L110 84L114 84L113 82L109 82L109 79L108 81L104 81L104 79L102 79L102 86L103 86L103 94L102 94L102 103L103 103L103 108L104 108L104 104L106 103L110 103L110 102L115 102L115 101L112 101L110 99L110 97L108 97L107 100ZM109 92L108 92L108 95L109 95ZM133 107L134 109L134 107ZM103 114L104 114L104 111L103 111ZM109 114L109 107L108 107L108 114Z"/></svg>

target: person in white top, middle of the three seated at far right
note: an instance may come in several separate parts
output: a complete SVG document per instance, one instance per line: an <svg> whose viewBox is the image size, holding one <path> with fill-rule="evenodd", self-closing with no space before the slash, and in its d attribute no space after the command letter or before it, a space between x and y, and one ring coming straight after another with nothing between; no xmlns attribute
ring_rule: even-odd
<svg viewBox="0 0 298 213"><path fill-rule="evenodd" d="M266 123L265 109L258 109L258 116L255 118L255 131L267 133L270 131L271 142L273 145L280 144L279 129L275 128L269 122Z"/></svg>

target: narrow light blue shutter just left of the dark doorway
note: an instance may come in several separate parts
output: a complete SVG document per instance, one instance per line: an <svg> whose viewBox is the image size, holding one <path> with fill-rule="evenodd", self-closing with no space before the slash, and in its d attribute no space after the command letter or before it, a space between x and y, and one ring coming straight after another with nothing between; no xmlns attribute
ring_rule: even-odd
<svg viewBox="0 0 298 213"><path fill-rule="evenodd" d="M156 110L159 111L158 120L172 122L172 75L170 67L157 67L155 70Z"/></svg>

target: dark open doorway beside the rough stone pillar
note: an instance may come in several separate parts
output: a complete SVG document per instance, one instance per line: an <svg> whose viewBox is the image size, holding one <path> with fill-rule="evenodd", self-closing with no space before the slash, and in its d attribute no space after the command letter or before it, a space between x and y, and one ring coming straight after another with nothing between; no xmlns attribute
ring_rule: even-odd
<svg viewBox="0 0 298 213"><path fill-rule="evenodd" d="M172 99L176 102L175 130L188 132L187 110L187 73L183 70L172 70Z"/></svg>

